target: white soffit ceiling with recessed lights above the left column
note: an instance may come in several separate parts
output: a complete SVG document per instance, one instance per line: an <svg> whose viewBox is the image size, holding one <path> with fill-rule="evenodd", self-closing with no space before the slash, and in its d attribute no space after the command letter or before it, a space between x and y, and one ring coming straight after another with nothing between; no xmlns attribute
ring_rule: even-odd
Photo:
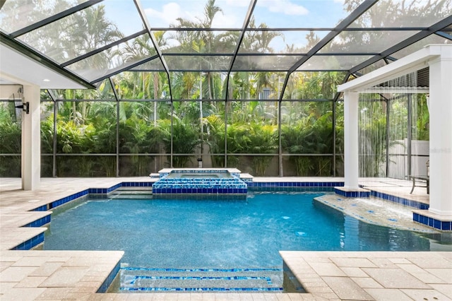
<svg viewBox="0 0 452 301"><path fill-rule="evenodd" d="M38 85L41 89L86 89L84 85L0 43L1 84L31 84Z"/></svg>

